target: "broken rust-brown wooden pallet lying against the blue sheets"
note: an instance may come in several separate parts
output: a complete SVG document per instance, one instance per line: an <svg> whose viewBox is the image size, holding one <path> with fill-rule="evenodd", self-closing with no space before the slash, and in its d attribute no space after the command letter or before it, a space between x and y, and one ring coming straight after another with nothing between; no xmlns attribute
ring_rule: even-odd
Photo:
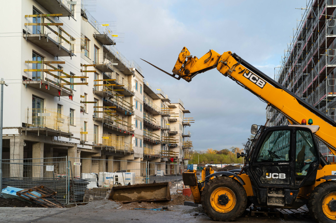
<svg viewBox="0 0 336 223"><path fill-rule="evenodd" d="M56 198L56 191L53 189L50 189L49 187L46 187L44 185L38 185L35 187L23 189L16 192L16 195L30 200L31 202L34 202L36 204L42 205L46 208L65 208L64 205L62 205ZM54 200L55 203L51 202L50 200L47 200L46 198L50 197Z"/></svg>

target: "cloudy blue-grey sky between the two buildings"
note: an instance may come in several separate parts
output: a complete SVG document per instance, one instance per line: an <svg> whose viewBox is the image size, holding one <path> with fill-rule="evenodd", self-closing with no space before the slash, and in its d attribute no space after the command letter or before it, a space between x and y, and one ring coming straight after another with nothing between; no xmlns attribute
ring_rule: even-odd
<svg viewBox="0 0 336 223"><path fill-rule="evenodd" d="M115 1L97 0L97 21L117 21L125 33L116 47L143 69L145 80L170 98L180 98L195 123L195 150L242 147L252 124L263 125L266 104L216 69L192 82L176 80L139 58L172 73L183 47L200 58L209 49L237 53L274 78L305 0L279 1Z"/></svg>

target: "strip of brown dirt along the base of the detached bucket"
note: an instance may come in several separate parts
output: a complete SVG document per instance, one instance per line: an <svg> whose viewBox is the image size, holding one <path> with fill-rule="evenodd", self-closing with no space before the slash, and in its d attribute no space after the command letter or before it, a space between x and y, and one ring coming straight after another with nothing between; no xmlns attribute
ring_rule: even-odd
<svg viewBox="0 0 336 223"><path fill-rule="evenodd" d="M145 208L145 209L153 209L159 208L162 206L174 206L174 205L184 205L185 201L193 201L188 196L184 196L181 194L173 194L171 195L171 201L161 201L161 202L131 202L127 204L120 204L123 207L120 209L134 209L134 208Z"/></svg>

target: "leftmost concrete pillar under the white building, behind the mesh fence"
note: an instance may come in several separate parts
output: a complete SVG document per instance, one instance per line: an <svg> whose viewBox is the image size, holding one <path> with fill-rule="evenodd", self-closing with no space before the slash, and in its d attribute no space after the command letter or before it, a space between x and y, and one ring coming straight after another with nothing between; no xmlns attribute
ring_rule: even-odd
<svg viewBox="0 0 336 223"><path fill-rule="evenodd" d="M23 177L23 136L13 136L9 141L9 176L10 177ZM21 163L21 164L15 164Z"/></svg>

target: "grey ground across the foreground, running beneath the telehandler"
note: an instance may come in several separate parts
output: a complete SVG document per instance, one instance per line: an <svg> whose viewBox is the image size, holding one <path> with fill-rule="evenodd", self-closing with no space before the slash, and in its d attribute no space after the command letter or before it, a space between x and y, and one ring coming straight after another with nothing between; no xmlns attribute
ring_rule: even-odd
<svg viewBox="0 0 336 223"><path fill-rule="evenodd" d="M0 223L215 223L202 208L176 205L168 211L136 209L75 208L0 208ZM51 211L51 212L50 212ZM53 213L52 211L58 211ZM288 219L279 217L241 216L234 223L315 223L309 216Z"/></svg>

